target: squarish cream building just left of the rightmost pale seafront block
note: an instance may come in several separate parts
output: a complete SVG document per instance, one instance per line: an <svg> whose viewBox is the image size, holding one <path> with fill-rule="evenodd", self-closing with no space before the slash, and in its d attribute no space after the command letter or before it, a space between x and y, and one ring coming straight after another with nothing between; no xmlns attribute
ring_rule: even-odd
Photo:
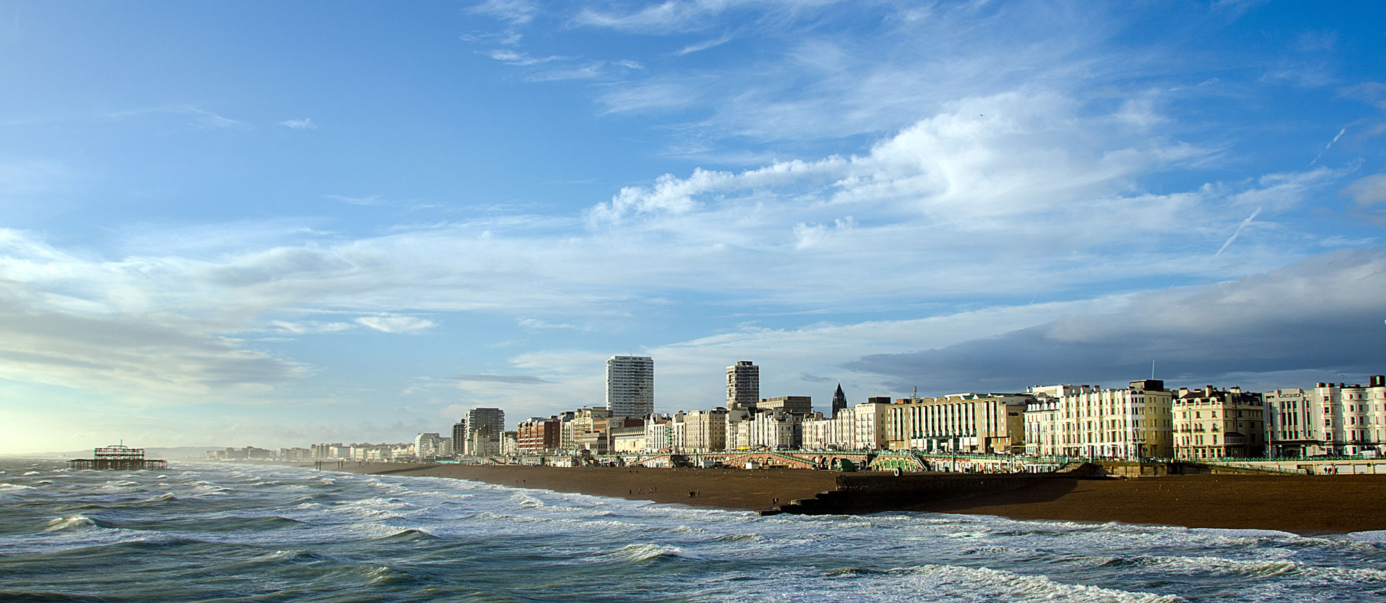
<svg viewBox="0 0 1386 603"><path fill-rule="evenodd" d="M1258 394L1236 387L1181 387L1173 403L1175 459L1245 459L1265 453L1265 419Z"/></svg>

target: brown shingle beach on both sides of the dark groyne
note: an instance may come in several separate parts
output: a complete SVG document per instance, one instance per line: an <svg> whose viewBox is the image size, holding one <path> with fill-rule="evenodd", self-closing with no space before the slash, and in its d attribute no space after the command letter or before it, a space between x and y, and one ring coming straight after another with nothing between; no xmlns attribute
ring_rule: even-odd
<svg viewBox="0 0 1386 603"><path fill-rule="evenodd" d="M310 464L309 464L310 466ZM327 469L327 467L324 467ZM331 467L335 470L335 467ZM660 503L762 510L836 487L837 473L737 469L348 464ZM690 492L697 495L689 496ZM1168 475L1135 480L1056 478L1010 492L922 505L911 510L1020 520L1119 521L1191 528L1335 534L1386 530L1386 475Z"/></svg>

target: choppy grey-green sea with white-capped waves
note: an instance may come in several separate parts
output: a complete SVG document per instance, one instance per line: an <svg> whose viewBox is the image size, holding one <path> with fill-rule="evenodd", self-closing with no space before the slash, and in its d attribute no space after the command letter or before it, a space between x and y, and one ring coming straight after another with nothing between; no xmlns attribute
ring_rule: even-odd
<svg viewBox="0 0 1386 603"><path fill-rule="evenodd" d="M760 517L427 477L0 459L0 602L631 600L1380 602L1386 532Z"/></svg>

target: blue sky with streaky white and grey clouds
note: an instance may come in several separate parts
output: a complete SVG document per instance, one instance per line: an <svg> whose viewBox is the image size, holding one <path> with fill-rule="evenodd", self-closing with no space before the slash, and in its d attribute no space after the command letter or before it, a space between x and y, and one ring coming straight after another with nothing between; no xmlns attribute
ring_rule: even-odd
<svg viewBox="0 0 1386 603"><path fill-rule="evenodd" d="M1386 373L1386 6L0 7L0 453Z"/></svg>

